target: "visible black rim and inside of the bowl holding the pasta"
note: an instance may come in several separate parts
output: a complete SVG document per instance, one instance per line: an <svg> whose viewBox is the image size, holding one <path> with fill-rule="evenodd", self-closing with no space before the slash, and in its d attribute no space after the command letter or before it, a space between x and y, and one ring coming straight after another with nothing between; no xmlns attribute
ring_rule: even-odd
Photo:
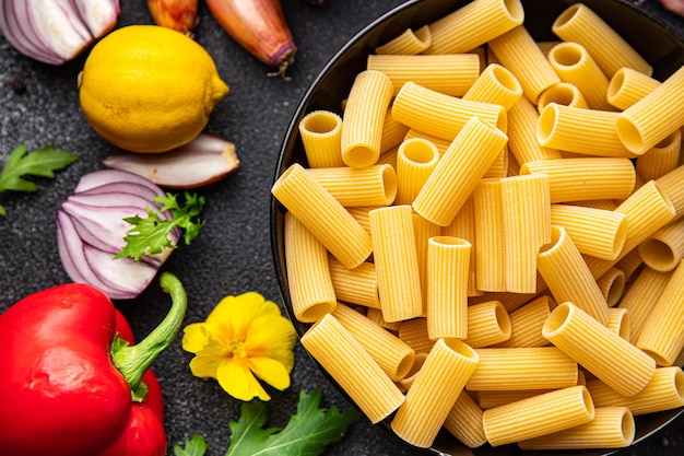
<svg viewBox="0 0 684 456"><path fill-rule="evenodd" d="M414 7L420 5L421 3L425 2L425 1L429 1L429 0L408 0L406 2L399 4L390 10L388 10L387 12L385 12L384 14L381 14L380 16L376 17L375 20L370 21L369 23L367 23L365 26L363 26L361 30L358 30L356 33L353 34L353 36L347 39L342 46L340 46L333 54L332 56L326 61L326 63L323 65L323 67L320 69L320 71L318 72L318 74L316 75L316 78L308 84L307 90L305 91L305 93L300 96L300 100L296 106L296 109L291 118L290 124L287 125L287 128L285 130L285 133L283 136L283 140L281 142L280 149L279 149L279 155L278 155L278 161L275 164L275 168L273 172L273 178L272 178L272 184L274 184L278 178L280 177L280 175L284 172L285 169L285 162L291 162L290 164L294 163L292 161L292 150L295 148L294 143L297 141L298 139L298 124L302 120L302 118L308 114L308 112L310 110L309 108L309 104L311 103L311 98L314 97L314 95L319 91L321 83L325 81L327 74L338 65L340 65L340 61L343 59L343 57L354 47L358 46L365 38L366 35L368 35L372 31L376 30L376 27L378 27L379 25L386 23L387 21L389 21L391 17L397 16L399 14L402 14L404 11L410 10ZM436 0L435 0L436 1ZM473 0L450 0L448 3L452 5L451 9L455 9L457 7L462 7L464 4L470 3ZM523 3L524 2L529 2L529 1L534 1L534 0L521 0ZM541 0L538 0L541 1ZM547 0L546 0L547 1ZM681 59L684 59L684 28L680 30L676 28L674 26L672 26L670 23L668 23L667 21L664 21L660 15L658 14L652 14L649 11L646 11L640 4L636 4L634 2L629 2L628 0L558 0L559 4L563 4L564 8L569 7L573 3L586 3L586 4L591 4L591 3L615 3L616 8L622 8L622 9L627 9L630 10L633 13L635 13L636 15L640 16L642 20L646 20L648 22L651 23L651 25L656 26L657 28L659 28L661 32L663 32L664 35L669 35L670 39L675 44L675 46L679 48L679 52L681 55ZM612 7L611 7L612 8ZM684 21L683 21L684 24ZM667 59L665 57L661 57L661 60ZM284 252L282 248L282 236L279 236L279 230L278 230L278 225L279 223L282 223L282 215L283 215L283 208L280 204L280 202L275 199L275 197L271 194L270 195L270 217L269 217L269 229L270 229L270 244L271 244L271 257L272 257L272 262L273 262L273 268L275 271L275 279L278 282L278 288L279 288L279 292L281 295L281 300L282 300L282 304L283 307L285 308L285 312L287 313L287 316L290 317L290 319L292 320L295 330L297 332L297 338L300 338L304 332L306 331L306 329L310 326L310 324L305 324L302 321L298 321L297 318L295 317L293 309L292 309L292 301L290 297L290 290L288 290L288 285L287 285L287 280L286 280L286 272L283 270L282 266L284 265ZM282 234L282 233L280 233ZM349 404L354 407L355 409L358 409L357 406L354 404L354 401L350 398L350 396L342 390L342 388L337 384L337 382L330 376L330 374L322 369L322 366L320 366L320 364L316 361L316 359L314 359L312 355L310 355L310 353L308 353L308 351L306 351L306 354L308 355L308 358L314 362L314 364L318 367L318 370L321 372L321 374L331 383L331 385L349 401ZM654 433L657 433L658 431L662 430L663 428L670 425L673 421L677 420L682 414L684 413L684 407L677 408L677 409L672 409L672 410L664 410L661 412L656 412L656 413L649 413L648 417L656 417L653 418L653 420L656 420L658 417L660 417L658 421L658 424L656 425L651 425L649 426L648 430L646 430L646 432L642 435L638 435L637 437L635 437L634 442L632 443L632 445L627 446L627 447L623 447L623 448L615 448L615 449L609 449L609 448L600 448L600 449L590 449L590 451L573 451L571 453L567 453L567 451L565 451L565 453L569 455L587 455L587 456L609 456L609 455L614 455L621 451L625 451L627 448L633 448L636 444L644 442L645 440L651 437ZM362 412L363 416L363 412ZM380 428L385 429L388 432L392 432L390 426L389 426L389 422L388 420L392 417L392 414L390 414L390 417L388 417L388 419L381 421ZM638 419L639 417L635 417L635 419ZM444 433L445 431L440 431L440 435ZM399 441L401 441L400 437L397 436L397 439ZM456 440L455 437L451 437L452 440L456 441L456 443L460 446L463 447L463 455L470 454L470 455L477 455L477 454L486 454L487 451L492 451L492 449L497 449L497 451L502 451L500 454L502 456L504 455L534 455L534 456L552 456L552 455L556 455L557 453L555 452L544 452L544 451L534 451L532 453L530 452L524 452L520 448L514 449L512 452L506 452L506 449L498 447L498 448L493 448L492 446L490 446L488 444L485 444L483 447L479 447L479 448L468 448L465 447L462 443L458 442L458 440ZM424 448L427 452L432 452L436 455L444 455L444 456L448 456L449 453L444 453L445 451L450 451L447 448L440 448L439 444L438 444L438 440L439 437L435 441L435 444L433 446L431 446L429 448ZM412 447L409 443L404 444L408 447ZM485 453L481 453L481 452L485 452ZM460 448L459 448L459 454L460 453ZM470 452L470 453L469 453Z"/></svg>

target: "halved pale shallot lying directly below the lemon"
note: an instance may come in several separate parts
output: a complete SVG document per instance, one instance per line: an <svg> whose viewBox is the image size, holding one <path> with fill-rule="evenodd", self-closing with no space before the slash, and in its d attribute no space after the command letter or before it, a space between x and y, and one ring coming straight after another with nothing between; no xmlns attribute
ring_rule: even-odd
<svg viewBox="0 0 684 456"><path fill-rule="evenodd" d="M215 183L239 166L235 144L200 133L185 145L163 153L126 152L107 156L105 166L135 173L164 188L189 189Z"/></svg>

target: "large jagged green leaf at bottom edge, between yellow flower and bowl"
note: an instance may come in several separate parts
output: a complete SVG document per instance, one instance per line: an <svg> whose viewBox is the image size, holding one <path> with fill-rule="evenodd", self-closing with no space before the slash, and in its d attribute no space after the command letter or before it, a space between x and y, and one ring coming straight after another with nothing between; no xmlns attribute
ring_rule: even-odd
<svg viewBox="0 0 684 456"><path fill-rule="evenodd" d="M263 428L267 409L255 399L245 402L240 419L229 424L231 446L226 456L316 456L326 446L339 442L358 412L350 409L341 413L334 406L319 408L321 393L299 393L297 413L290 418L284 429Z"/></svg>

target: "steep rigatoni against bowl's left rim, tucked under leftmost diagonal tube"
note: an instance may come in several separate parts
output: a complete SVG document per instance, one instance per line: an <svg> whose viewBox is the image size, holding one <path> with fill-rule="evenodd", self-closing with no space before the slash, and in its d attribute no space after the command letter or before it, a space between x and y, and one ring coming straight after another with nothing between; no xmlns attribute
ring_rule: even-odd
<svg viewBox="0 0 684 456"><path fill-rule="evenodd" d="M295 317L299 321L316 321L337 306L328 250L292 212L285 213L284 237L287 285Z"/></svg>

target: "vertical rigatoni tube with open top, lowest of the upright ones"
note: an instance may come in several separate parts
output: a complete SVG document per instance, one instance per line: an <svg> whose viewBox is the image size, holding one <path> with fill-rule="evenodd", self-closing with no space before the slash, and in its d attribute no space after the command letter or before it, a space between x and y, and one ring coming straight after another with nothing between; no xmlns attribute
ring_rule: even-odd
<svg viewBox="0 0 684 456"><path fill-rule="evenodd" d="M427 334L431 339L468 337L468 272L471 244L437 236L427 247Z"/></svg>

